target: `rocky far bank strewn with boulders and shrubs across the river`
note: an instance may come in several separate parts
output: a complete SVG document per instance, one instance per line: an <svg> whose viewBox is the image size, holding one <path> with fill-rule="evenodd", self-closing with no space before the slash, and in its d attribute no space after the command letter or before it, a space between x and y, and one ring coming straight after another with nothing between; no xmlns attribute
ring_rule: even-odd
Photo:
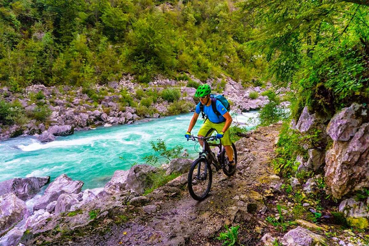
<svg viewBox="0 0 369 246"><path fill-rule="evenodd" d="M192 77L192 80L201 83L200 80ZM246 87L233 81L229 77L222 79L208 79L213 89L220 88L220 93L225 94L232 102L232 111L241 112L262 108L269 102L267 96L261 93L270 89L271 84L265 88ZM11 93L6 87L0 88L0 98L6 102L19 102L19 107L25 114L33 115L39 112L40 105L47 107L51 115L41 121L32 119L24 124L6 125L0 122L0 141L19 135L38 135L41 142L50 142L56 136L70 135L76 130L90 129L99 125L110 126L113 124L132 124L134 121L144 118L158 118L172 114L168 111L174 107L173 103L163 100L160 96L155 102L142 111L140 97L137 91L146 93L151 91L159 95L166 88L174 88L180 91L178 102L181 104L181 112L194 110L196 98L194 98L195 88L186 87L187 81L176 81L169 79L156 79L148 85L143 86L134 82L130 75L123 77L118 82L110 82L106 86L96 86L92 90L96 92L91 96L83 93L81 87L45 87L43 85L32 85L24 90L24 93ZM220 87L220 85L223 87ZM122 94L122 91L123 94ZM255 91L257 97L251 99L250 92ZM283 97L288 89L279 89L277 94ZM94 96L100 95L99 98ZM104 96L102 96L104 95ZM137 107L130 107L124 101L127 96L133 98ZM97 97L97 96L96 96ZM123 98L123 99L122 99ZM178 112L177 112L178 113Z"/></svg>

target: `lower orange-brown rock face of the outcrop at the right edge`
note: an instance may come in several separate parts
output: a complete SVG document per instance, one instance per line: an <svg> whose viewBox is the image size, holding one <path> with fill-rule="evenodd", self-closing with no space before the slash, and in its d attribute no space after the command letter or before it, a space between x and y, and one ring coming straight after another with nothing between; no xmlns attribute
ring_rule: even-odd
<svg viewBox="0 0 369 246"><path fill-rule="evenodd" d="M369 123L363 123L350 141L334 141L325 153L327 193L341 198L369 184Z"/></svg>

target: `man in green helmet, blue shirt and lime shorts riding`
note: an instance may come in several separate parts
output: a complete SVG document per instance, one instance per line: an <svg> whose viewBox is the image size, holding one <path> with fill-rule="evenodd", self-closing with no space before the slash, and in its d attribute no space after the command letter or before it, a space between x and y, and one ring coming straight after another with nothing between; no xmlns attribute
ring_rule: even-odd
<svg viewBox="0 0 369 246"><path fill-rule="evenodd" d="M199 138L203 136L209 136L213 133L214 130L217 131L216 139L220 139L222 145L225 148L225 152L227 153L229 161L228 164L234 165L233 149L231 146L231 135L229 131L229 127L232 123L232 117L227 111L227 108L225 108L219 100L216 100L216 109L218 112L220 112L221 115L218 116L214 112L211 105L210 92L211 89L208 84L202 84L199 86L199 88L197 88L195 92L195 97L199 97L200 102L196 105L196 110L192 116L188 130L186 134L184 134L184 136L187 138L187 140L191 137L191 131L195 126L197 118L200 114L200 104L203 104L203 111L207 118L205 119L204 124L201 126L199 132L197 133L197 136ZM203 146L203 141L199 140L199 142L201 146Z"/></svg>

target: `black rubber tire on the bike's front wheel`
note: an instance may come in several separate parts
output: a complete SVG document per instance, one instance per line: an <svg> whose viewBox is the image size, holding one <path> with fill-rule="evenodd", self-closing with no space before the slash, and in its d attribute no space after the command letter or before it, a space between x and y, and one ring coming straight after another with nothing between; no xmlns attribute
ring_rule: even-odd
<svg viewBox="0 0 369 246"><path fill-rule="evenodd" d="M207 184L207 187L206 187L206 190L203 194L201 195L197 195L194 191L194 187L193 187L193 174L194 174L194 171L195 171L195 174L196 174L196 170L198 168L198 164L201 163L203 165L207 164L207 177L205 180L208 180L208 184ZM196 169L196 170L195 170ZM200 169L201 169L201 165L200 165ZM190 171L188 173L188 191L191 195L191 197L196 200L196 201L202 201L204 200L207 195L209 194L210 192L210 188L211 188L211 181L213 179L213 172L211 170L211 166L210 166L210 163L206 163L206 159L204 157L200 157L200 158L197 158L196 160L194 160L194 162L192 163L191 165L191 168L190 168Z"/></svg>

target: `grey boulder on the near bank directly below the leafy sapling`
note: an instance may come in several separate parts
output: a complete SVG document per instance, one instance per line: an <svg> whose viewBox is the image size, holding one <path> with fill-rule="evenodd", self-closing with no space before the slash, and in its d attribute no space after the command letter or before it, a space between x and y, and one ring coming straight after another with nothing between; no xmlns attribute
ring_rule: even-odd
<svg viewBox="0 0 369 246"><path fill-rule="evenodd" d="M125 189L134 190L142 195L146 188L152 186L152 180L149 179L149 176L155 173L156 170L156 167L147 164L139 164L131 167L127 176Z"/></svg>

